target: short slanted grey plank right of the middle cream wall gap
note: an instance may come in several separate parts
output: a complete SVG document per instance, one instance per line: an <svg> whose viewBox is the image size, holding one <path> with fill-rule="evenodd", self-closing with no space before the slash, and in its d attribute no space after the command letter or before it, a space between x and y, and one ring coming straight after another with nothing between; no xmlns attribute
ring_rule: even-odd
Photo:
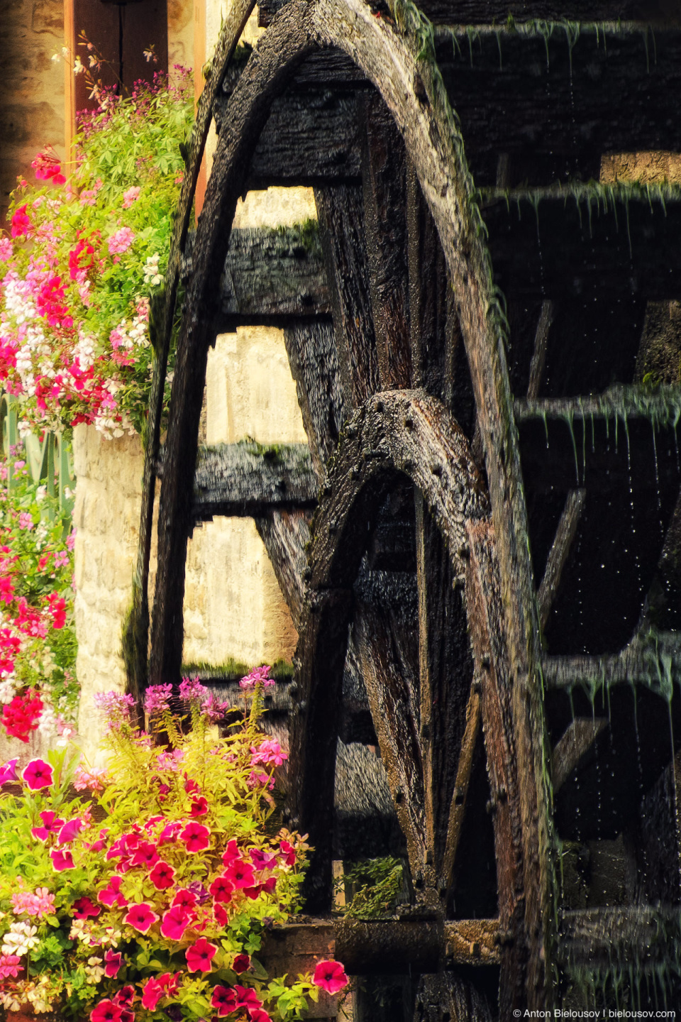
<svg viewBox="0 0 681 1022"><path fill-rule="evenodd" d="M322 480L324 466L336 450L345 420L333 326L330 322L295 324L284 330L284 343L312 465Z"/></svg>

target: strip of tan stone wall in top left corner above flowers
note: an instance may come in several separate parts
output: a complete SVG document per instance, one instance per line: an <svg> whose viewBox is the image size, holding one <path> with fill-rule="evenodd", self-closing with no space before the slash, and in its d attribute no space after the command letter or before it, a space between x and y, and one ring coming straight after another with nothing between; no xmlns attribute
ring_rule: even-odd
<svg viewBox="0 0 681 1022"><path fill-rule="evenodd" d="M0 227L19 175L46 146L63 158L63 0L2 0L0 4Z"/></svg>

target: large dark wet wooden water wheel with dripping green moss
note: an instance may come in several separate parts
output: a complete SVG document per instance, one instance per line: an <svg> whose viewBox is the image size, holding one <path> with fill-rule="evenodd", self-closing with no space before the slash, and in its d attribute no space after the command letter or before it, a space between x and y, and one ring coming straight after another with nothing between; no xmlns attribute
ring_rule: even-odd
<svg viewBox="0 0 681 1022"><path fill-rule="evenodd" d="M341 924L339 954L421 975L421 1020L633 1004L643 975L678 994L681 204L583 182L603 153L681 151L681 36L606 24L650 16L632 3L580 4L590 25L517 6L499 27L492 2L433 0L433 29L406 3L288 0L225 75L235 8L145 473L152 684L180 673L193 524L252 515L272 558L299 634L287 812L315 914L344 677L363 687L412 903ZM314 186L318 231L231 230L273 183ZM309 447L197 462L207 349L239 322L285 328ZM609 870L622 889L599 893Z"/></svg>

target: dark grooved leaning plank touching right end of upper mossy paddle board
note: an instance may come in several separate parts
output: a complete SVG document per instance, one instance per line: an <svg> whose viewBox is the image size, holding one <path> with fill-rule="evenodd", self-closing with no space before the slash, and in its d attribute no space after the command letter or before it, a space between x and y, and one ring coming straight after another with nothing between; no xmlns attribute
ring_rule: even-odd
<svg viewBox="0 0 681 1022"><path fill-rule="evenodd" d="M379 387L361 189L314 189L344 400L361 405Z"/></svg>

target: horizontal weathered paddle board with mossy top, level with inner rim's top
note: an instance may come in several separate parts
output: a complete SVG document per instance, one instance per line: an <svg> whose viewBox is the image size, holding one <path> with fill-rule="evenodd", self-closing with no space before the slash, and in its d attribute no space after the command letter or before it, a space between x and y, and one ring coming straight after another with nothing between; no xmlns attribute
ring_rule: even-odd
<svg viewBox="0 0 681 1022"><path fill-rule="evenodd" d="M162 478L162 471L160 472ZM201 447L194 475L193 517L255 516L312 507L317 479L305 444L262 447L244 442Z"/></svg>

